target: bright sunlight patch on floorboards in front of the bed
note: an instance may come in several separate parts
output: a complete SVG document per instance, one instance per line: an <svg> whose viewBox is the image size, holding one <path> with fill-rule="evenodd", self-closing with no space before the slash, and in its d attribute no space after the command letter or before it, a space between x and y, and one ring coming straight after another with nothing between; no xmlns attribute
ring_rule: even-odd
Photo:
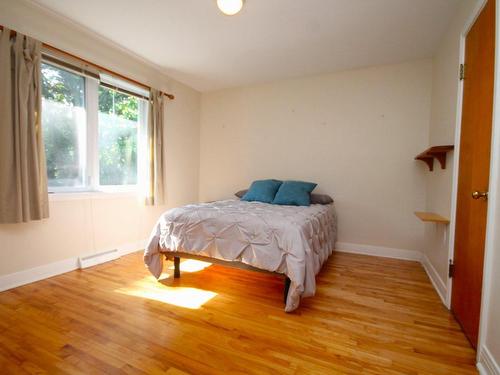
<svg viewBox="0 0 500 375"><path fill-rule="evenodd" d="M116 289L115 292L188 309L199 309L205 303L217 296L217 293L208 290L166 286L160 282L155 281L151 283L148 280L136 281L127 288Z"/></svg>

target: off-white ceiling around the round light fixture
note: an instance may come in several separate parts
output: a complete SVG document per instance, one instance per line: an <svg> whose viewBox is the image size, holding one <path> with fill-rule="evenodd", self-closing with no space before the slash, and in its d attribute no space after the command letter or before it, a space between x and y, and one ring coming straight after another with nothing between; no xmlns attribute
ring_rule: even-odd
<svg viewBox="0 0 500 375"><path fill-rule="evenodd" d="M35 0L199 91L431 57L460 0Z"/></svg>

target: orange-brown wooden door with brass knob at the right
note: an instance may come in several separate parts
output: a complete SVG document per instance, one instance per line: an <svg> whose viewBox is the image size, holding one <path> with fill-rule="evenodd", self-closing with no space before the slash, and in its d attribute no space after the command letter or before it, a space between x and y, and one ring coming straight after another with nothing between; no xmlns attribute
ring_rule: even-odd
<svg viewBox="0 0 500 375"><path fill-rule="evenodd" d="M476 347L488 207L495 0L488 0L468 32L465 44L451 308L467 338Z"/></svg>

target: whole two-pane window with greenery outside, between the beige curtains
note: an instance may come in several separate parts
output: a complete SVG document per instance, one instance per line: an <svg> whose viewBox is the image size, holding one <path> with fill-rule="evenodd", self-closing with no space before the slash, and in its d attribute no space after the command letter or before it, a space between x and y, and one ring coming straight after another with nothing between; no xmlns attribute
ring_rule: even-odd
<svg viewBox="0 0 500 375"><path fill-rule="evenodd" d="M99 80L43 63L42 127L49 191L134 189L147 95L111 77Z"/></svg>

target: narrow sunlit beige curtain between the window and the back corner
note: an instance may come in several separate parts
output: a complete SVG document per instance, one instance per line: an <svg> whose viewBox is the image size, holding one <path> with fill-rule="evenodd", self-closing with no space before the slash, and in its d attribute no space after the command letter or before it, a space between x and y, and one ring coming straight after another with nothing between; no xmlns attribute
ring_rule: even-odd
<svg viewBox="0 0 500 375"><path fill-rule="evenodd" d="M163 146L163 123L164 123L164 98L163 93L151 89L149 100L149 119L147 127L147 164L149 166L146 177L146 205L162 205L165 203L164 186L164 146Z"/></svg>

